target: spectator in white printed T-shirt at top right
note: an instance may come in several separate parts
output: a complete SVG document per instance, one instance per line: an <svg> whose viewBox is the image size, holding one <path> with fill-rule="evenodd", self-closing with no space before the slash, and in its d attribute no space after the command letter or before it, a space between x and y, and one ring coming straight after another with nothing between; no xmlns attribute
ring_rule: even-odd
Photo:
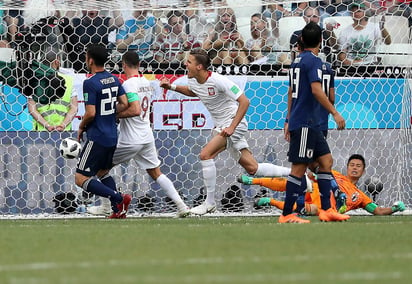
<svg viewBox="0 0 412 284"><path fill-rule="evenodd" d="M391 44L391 37L384 27L384 21L371 23L365 15L365 5L352 4L353 24L341 31L338 58L342 65L378 64L374 54L375 47L381 41Z"/></svg>

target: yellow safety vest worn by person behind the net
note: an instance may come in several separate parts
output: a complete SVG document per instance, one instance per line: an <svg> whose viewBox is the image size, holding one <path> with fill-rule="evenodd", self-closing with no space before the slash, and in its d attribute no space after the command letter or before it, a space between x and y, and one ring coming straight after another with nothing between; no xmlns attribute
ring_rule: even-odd
<svg viewBox="0 0 412 284"><path fill-rule="evenodd" d="M66 91L64 92L63 97L46 105L36 103L37 111L52 126L60 125L66 117L67 112L70 110L70 101L74 85L72 76L61 73L59 73L59 75L63 77L65 82L64 86L66 87ZM47 129L36 120L33 120L33 123L33 130L47 131ZM70 128L71 123L66 125L66 128L64 130L70 130Z"/></svg>

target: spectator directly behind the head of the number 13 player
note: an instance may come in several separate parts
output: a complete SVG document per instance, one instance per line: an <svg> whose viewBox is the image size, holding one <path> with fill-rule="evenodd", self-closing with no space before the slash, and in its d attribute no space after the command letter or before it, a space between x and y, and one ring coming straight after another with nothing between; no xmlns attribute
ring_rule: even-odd
<svg viewBox="0 0 412 284"><path fill-rule="evenodd" d="M320 23L320 15L319 9L313 7L307 7L304 11L304 20L306 23L313 22L319 25ZM297 54L299 54L298 48L298 39L302 35L302 30L295 31L292 36L290 37L290 49L291 49L291 57L292 61L296 58ZM337 47L336 45L337 39L336 35L333 32L332 25L326 25L326 29L322 29L322 45L321 51L326 56L326 62L332 63L332 49Z"/></svg>

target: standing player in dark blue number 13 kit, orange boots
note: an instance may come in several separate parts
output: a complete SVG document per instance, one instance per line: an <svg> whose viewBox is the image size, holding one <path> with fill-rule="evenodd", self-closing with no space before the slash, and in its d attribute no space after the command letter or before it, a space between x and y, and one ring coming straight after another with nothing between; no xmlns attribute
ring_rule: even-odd
<svg viewBox="0 0 412 284"><path fill-rule="evenodd" d="M333 159L326 138L320 129L320 112L323 107L331 113L338 129L345 128L345 120L330 103L322 89L322 61L317 54L322 32L315 23L308 23L302 30L303 52L294 60L289 70L291 92L288 96L289 161L291 172L286 185L285 206L279 223L309 223L293 213L293 205L302 194L304 176L308 165L319 163L318 184L321 193L321 221L344 221L349 216L331 208L330 182Z"/></svg>

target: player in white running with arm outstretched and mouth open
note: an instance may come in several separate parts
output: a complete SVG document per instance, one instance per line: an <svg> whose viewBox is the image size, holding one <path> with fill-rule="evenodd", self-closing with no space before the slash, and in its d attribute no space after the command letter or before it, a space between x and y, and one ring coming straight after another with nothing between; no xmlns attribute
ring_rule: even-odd
<svg viewBox="0 0 412 284"><path fill-rule="evenodd" d="M191 209L196 215L204 215L216 210L215 187L216 166L214 158L228 149L238 163L251 175L278 176L288 174L284 167L269 163L257 163L245 139L248 130L245 119L249 99L242 90L226 78L208 71L210 58L206 51L193 49L186 61L188 86L176 86L163 79L160 86L190 97L198 97L210 112L215 128L213 138L200 153L206 200ZM285 171L287 171L285 173Z"/></svg>

